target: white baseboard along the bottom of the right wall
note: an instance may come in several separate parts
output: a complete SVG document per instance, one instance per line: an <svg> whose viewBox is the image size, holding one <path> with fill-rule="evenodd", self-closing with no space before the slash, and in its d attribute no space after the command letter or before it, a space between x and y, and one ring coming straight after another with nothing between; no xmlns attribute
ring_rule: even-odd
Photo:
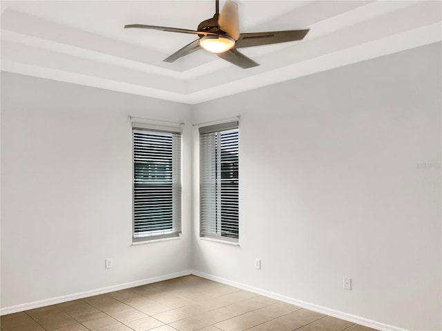
<svg viewBox="0 0 442 331"><path fill-rule="evenodd" d="M353 314L347 314L346 312L340 312L339 310L334 310L332 308L323 307L322 305L316 305L314 303L305 302L302 300L294 299L291 297L286 297L285 295L269 292L267 290L262 290L260 288L254 288L253 286L249 286L243 283L237 283L236 281L230 281L229 279L224 279L222 277L213 276L212 274L206 274L205 272L200 272L197 270L192 270L191 274L195 276L202 277L205 279L210 279L211 281L218 281L218 283L223 283L226 285L231 285L236 288L241 288L242 290L247 290L249 292L257 293L264 295L265 297L269 297L272 299L276 299L279 301L284 301L287 303L291 303L293 305L297 305L301 308L306 308L308 310L313 310L314 312L320 312L322 314L327 314L332 317L336 317L338 319L344 319L345 321L350 321L353 323L365 325L369 328L374 328L376 330L381 331L409 331L403 328L398 328L397 326L388 325L385 323L381 323L378 321L372 321L371 319L365 319L364 317L359 317Z"/></svg>

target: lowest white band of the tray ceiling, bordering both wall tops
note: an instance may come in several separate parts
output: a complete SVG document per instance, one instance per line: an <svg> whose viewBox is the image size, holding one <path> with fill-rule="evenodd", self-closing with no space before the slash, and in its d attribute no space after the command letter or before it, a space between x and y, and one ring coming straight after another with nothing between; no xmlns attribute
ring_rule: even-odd
<svg viewBox="0 0 442 331"><path fill-rule="evenodd" d="M148 88L131 83L113 81L111 79L87 76L85 74L49 69L46 67L31 66L10 60L1 61L1 70L45 79L64 81L67 83L91 86L95 88L104 88L106 90L137 94L144 97L153 97L156 99L196 104L226 97L231 94L237 94L247 90L261 88L274 83L296 79L309 74L315 74L317 72L347 66L352 63L382 57L395 52L425 46L430 43L436 43L442 41L441 31L442 23L434 23L430 26L425 26L423 28L410 30L400 34L394 34L390 37L385 37L383 39L378 39L362 45L325 54L314 59L285 66L284 68L262 72L251 77L231 81L230 83L224 83L222 86L214 86L213 88L200 90L191 94Z"/></svg>

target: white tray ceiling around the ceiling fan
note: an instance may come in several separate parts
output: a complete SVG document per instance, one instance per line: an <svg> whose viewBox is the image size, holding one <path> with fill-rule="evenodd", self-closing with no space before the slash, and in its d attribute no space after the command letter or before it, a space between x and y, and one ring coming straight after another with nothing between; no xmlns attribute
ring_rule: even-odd
<svg viewBox="0 0 442 331"><path fill-rule="evenodd" d="M195 30L215 1L1 1L1 70L199 103L442 40L442 1L236 2L241 32L310 31L243 48L256 68L204 50L165 63L195 36L123 26Z"/></svg>

